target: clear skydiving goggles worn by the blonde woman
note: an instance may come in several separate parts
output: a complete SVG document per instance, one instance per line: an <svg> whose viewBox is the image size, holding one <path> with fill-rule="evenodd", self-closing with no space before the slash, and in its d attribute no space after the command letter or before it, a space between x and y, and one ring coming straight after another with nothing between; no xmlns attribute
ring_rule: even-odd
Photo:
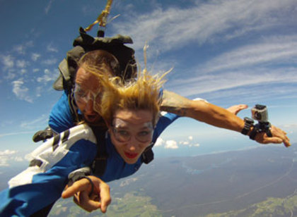
<svg viewBox="0 0 297 217"><path fill-rule="evenodd" d="M120 118L115 118L111 127L118 142L129 142L132 136L138 142L151 142L153 138L153 123L151 122L134 126Z"/></svg>

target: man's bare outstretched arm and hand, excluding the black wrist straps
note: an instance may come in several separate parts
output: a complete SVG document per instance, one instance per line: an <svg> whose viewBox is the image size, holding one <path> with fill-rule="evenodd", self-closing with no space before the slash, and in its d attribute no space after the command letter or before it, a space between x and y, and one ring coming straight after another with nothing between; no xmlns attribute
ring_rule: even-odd
<svg viewBox="0 0 297 217"><path fill-rule="evenodd" d="M245 125L243 119L226 109L203 100L193 101L166 90L163 92L161 110L237 132L241 132ZM291 145L283 130L272 126L272 135L273 137L267 137L265 133L259 133L255 140L264 144L284 142L286 147Z"/></svg>

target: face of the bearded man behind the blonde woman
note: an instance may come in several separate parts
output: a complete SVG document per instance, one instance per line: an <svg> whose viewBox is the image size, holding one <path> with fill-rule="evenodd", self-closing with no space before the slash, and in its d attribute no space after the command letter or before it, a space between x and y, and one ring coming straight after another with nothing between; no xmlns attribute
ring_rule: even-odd
<svg viewBox="0 0 297 217"><path fill-rule="evenodd" d="M74 98L84 120L91 124L98 123L102 118L93 108L94 104L101 104L102 90L98 77L78 68L75 82Z"/></svg>

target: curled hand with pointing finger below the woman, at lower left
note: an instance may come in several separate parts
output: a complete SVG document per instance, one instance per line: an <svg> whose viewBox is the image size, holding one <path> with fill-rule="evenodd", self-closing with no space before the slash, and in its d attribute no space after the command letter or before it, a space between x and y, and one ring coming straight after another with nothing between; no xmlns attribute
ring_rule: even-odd
<svg viewBox="0 0 297 217"><path fill-rule="evenodd" d="M110 187L100 178L89 175L94 184L93 192L92 185L89 180L83 178L73 183L71 186L66 186L62 193L62 198L74 196L74 202L81 206L82 209L91 212L96 209L101 209L103 213L107 211L107 206L111 203Z"/></svg>

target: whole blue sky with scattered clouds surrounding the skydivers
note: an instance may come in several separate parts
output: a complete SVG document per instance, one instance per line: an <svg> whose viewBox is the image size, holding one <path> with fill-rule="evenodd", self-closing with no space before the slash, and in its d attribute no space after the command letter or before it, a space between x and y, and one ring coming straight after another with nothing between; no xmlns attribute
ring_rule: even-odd
<svg viewBox="0 0 297 217"><path fill-rule="evenodd" d="M0 0L0 166L23 161L61 92L57 66L106 1ZM105 35L129 35L148 69L170 68L165 88L227 108L265 104L271 122L297 132L297 1L114 0ZM89 34L95 36L97 27ZM250 110L240 117L250 116ZM256 143L183 118L159 140L159 155L203 154Z"/></svg>

